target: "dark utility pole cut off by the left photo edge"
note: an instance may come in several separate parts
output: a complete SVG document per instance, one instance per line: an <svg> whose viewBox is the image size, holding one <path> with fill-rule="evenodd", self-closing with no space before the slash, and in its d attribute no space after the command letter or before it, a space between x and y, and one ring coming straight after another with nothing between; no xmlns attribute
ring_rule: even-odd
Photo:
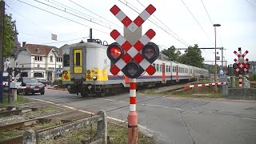
<svg viewBox="0 0 256 144"><path fill-rule="evenodd" d="M3 102L3 30L5 23L5 2L0 0L0 102Z"/></svg>

